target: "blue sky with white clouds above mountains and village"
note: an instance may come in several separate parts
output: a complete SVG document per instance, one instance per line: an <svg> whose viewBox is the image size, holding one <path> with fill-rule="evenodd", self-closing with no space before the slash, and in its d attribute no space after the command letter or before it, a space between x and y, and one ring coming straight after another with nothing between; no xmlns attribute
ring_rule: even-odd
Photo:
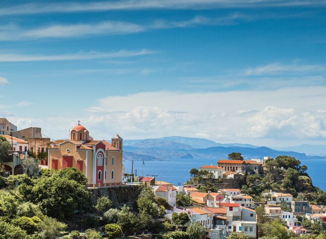
<svg viewBox="0 0 326 239"><path fill-rule="evenodd" d="M326 144L325 0L0 0L0 117L68 137Z"/></svg>

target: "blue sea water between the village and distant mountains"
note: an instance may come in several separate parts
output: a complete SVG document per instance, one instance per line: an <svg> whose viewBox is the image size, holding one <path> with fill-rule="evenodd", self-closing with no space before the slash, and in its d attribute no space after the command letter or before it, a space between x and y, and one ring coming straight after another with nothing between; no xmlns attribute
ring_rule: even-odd
<svg viewBox="0 0 326 239"><path fill-rule="evenodd" d="M321 190L326 191L326 158L300 160L307 165L310 178L313 184ZM134 173L146 176L153 175L158 181L172 183L175 186L183 185L190 178L190 169L199 168L202 165L216 165L216 158L169 158L166 161L134 161ZM131 173L131 161L123 161L126 171Z"/></svg>

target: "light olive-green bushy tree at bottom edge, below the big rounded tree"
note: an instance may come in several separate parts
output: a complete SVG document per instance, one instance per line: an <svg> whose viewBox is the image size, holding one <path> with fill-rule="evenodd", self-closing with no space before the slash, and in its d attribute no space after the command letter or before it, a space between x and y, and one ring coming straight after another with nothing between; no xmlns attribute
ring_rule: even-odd
<svg viewBox="0 0 326 239"><path fill-rule="evenodd" d="M60 232L66 230L67 225L48 216L42 218L38 224L39 236L41 239L56 238Z"/></svg>

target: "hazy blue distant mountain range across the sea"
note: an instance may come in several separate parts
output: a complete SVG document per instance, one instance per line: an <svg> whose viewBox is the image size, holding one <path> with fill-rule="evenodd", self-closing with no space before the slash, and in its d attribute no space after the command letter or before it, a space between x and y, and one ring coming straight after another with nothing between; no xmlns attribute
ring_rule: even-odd
<svg viewBox="0 0 326 239"><path fill-rule="evenodd" d="M294 150L275 150L242 143L216 143L211 140L187 137L163 137L144 140L124 140L125 160L169 160L171 158L227 158L231 152L240 152L245 159L289 155L297 159L319 158ZM299 151L299 150L298 150Z"/></svg>

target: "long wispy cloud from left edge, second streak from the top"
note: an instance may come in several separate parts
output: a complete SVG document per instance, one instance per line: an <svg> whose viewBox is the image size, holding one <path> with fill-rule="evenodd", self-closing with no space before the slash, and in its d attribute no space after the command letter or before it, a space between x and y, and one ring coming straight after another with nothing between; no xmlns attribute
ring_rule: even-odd
<svg viewBox="0 0 326 239"><path fill-rule="evenodd" d="M55 24L32 29L23 29L15 24L0 26L0 41L19 41L41 38L71 38L93 35L117 35L146 32L158 29L185 28L198 25L231 25L240 20L251 18L233 13L216 18L195 16L183 21L155 20L149 24L135 24L121 21L103 21L98 23Z"/></svg>

